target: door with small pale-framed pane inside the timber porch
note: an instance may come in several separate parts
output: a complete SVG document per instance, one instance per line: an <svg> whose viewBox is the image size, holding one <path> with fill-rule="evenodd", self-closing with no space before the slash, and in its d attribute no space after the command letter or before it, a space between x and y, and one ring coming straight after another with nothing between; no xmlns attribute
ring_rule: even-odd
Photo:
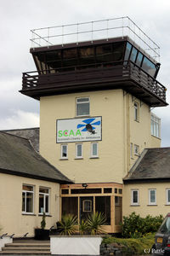
<svg viewBox="0 0 170 256"><path fill-rule="evenodd" d="M82 196L80 197L80 221L86 219L88 214L94 212L94 197L93 196Z"/></svg>

